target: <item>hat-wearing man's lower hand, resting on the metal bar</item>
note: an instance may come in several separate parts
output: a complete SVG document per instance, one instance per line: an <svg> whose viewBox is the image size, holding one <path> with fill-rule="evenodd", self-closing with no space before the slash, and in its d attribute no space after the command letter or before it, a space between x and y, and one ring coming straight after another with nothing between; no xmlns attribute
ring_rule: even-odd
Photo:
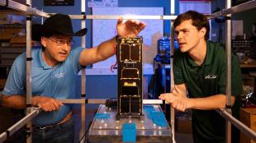
<svg viewBox="0 0 256 143"><path fill-rule="evenodd" d="M58 110L62 105L64 104L58 99L46 96L34 96L32 98L32 106L38 106L46 112Z"/></svg>

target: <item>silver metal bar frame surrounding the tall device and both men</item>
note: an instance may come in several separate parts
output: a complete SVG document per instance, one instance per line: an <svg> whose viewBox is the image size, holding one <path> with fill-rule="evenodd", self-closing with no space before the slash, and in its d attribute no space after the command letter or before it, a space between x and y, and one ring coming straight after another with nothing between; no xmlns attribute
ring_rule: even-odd
<svg viewBox="0 0 256 143"><path fill-rule="evenodd" d="M44 16L44 17L49 17L50 14L49 13L45 13L42 12L40 10L37 10L36 8L31 7L31 0L26 0L27 5L23 5L21 3L18 2L14 2L12 0L0 0L0 5L1 6L5 6L5 7L10 7L12 9L15 9L17 11L21 11L21 12L26 12L27 15L27 21L26 21L26 69L27 69L27 77L26 77L26 85L27 85L27 98L26 98L26 104L28 106L31 105L31 16ZM82 13L81 15L70 15L70 17L72 19L81 19L82 21L82 28L85 27L85 20L86 19L118 19L119 16L95 16L95 15L85 15L85 0L82 0ZM212 13L211 15L208 16L209 19L211 18L216 18L218 16L231 16L232 13L236 13L236 12L244 12L246 10L252 9L254 7L256 7L256 0L252 0L249 2L245 2L243 4L239 4L238 6L235 7L230 7L231 6L231 0L226 0L226 8L220 12L215 12ZM174 16L174 0L170 0L170 7L171 8L171 16L123 16L124 19L136 19L136 20L142 20L142 19L150 19L150 20L170 20L171 21L171 30L173 31L173 21L175 20L175 18L177 16ZM223 118L226 118L227 121L227 127L229 128L227 130L227 134L226 134L226 142L230 142L230 122L232 122L233 125L235 125L235 127L238 127L240 131L243 131L247 136L249 136L251 139L253 139L254 141L256 141L256 133L252 130L249 129L249 127L246 127L242 122L239 122L237 119L233 118L231 113L230 113L230 91L231 91L231 69L230 69L230 51L231 51L231 45L230 45L230 33L231 33L231 21L228 20L226 23L226 53L227 53L227 81L226 81L226 100L227 102L227 108L225 109L216 109L216 111L218 113L220 113L220 115ZM172 40L172 47L173 47L173 39L174 39L174 35L172 32L171 35L171 40ZM82 38L82 46L85 47L86 45L86 41L85 38ZM172 48L173 49L173 48ZM173 51L172 51L173 53ZM171 66L172 64L171 60ZM171 68L171 70L173 70L173 68ZM84 89L82 88L81 90L81 95L82 95L82 99L63 99L63 103L64 104L104 104L106 103L106 99L86 99L85 98L85 71L82 71L82 87L84 87ZM171 77L173 78L173 71L171 71ZM174 83L173 80L171 80L171 89L173 87ZM162 101L160 100L143 100L144 104L161 104ZM85 106L81 106L81 118L82 118L82 126L85 125ZM13 125L12 127L10 127L9 129L7 129L7 131L3 132L2 134L0 134L0 143L7 140L7 137L11 136L15 131L17 131L19 128L21 128L22 126L24 126L27 122L31 122L31 119L36 117L36 115L40 113L40 108L27 108L27 115L25 118L22 118L19 122L17 122L15 125ZM173 142L175 142L174 140L174 109L171 109L171 124L172 124L172 133L173 133ZM31 128L31 124L28 123L28 127ZM81 127L83 128L83 127ZM29 130L31 131L31 130ZM29 132L31 133L31 132ZM79 136L83 137L83 133L84 130L81 129ZM79 141L84 141L84 139L82 138ZM27 142L31 142L31 136L28 138Z"/></svg>

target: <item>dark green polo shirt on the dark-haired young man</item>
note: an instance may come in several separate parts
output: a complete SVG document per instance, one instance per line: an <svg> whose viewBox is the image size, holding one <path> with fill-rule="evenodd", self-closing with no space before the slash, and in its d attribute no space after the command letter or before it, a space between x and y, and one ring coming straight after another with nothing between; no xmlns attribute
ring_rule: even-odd
<svg viewBox="0 0 256 143"><path fill-rule="evenodd" d="M190 98L225 95L226 53L221 44L207 41L206 58L201 66L188 55L175 51L173 74L175 85L185 83ZM233 113L239 113L242 76L239 58L232 53L231 94L236 96ZM215 110L192 110L192 131L195 142L225 142L225 119Z"/></svg>

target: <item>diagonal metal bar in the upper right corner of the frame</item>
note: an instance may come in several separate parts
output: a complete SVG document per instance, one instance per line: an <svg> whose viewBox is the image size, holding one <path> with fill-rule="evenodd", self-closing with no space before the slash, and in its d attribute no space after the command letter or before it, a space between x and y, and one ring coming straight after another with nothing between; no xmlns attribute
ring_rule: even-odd
<svg viewBox="0 0 256 143"><path fill-rule="evenodd" d="M211 15L208 16L208 18L212 19L219 16L226 16L233 13L244 12L244 11L253 9L255 7L256 7L256 0L252 0L249 2L244 2L242 4L239 4L235 7L227 7L226 9L221 10L220 12L212 13Z"/></svg>

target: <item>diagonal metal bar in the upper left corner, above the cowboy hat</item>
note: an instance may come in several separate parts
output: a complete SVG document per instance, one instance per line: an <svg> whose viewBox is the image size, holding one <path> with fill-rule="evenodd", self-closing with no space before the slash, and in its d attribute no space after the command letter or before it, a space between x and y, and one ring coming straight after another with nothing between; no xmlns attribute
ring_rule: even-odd
<svg viewBox="0 0 256 143"><path fill-rule="evenodd" d="M0 5L6 6L7 3L6 3L5 0L0 0ZM49 17L50 16L46 12L42 12L40 10L37 10L36 8L28 7L24 4L21 4L19 2L14 2L14 1L11 1L11 0L8 0L7 7L15 9L17 11L26 12L27 14L30 14L30 15L44 16L44 17Z"/></svg>

